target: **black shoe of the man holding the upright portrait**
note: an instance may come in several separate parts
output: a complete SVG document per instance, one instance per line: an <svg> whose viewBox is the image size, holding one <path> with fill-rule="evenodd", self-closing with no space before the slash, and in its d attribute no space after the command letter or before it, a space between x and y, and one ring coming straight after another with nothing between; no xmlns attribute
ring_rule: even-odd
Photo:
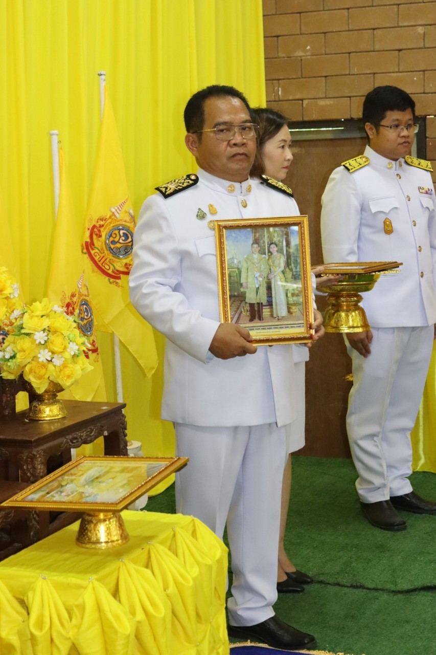
<svg viewBox="0 0 436 655"><path fill-rule="evenodd" d="M284 623L278 616L267 618L255 626L228 626L229 637L245 637L245 639L261 639L268 646L293 650L294 648L312 648L316 639L306 632Z"/></svg>

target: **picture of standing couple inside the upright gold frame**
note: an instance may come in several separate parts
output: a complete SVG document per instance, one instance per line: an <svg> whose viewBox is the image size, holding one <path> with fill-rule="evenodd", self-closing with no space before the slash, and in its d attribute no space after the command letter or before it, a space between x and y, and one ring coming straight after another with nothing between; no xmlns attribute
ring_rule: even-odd
<svg viewBox="0 0 436 655"><path fill-rule="evenodd" d="M255 327L304 320L298 226L228 230L226 251L232 323Z"/></svg>

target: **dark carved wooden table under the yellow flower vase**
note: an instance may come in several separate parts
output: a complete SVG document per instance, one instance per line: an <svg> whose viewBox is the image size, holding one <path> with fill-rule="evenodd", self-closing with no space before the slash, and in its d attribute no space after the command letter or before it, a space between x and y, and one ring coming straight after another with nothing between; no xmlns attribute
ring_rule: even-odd
<svg viewBox="0 0 436 655"><path fill-rule="evenodd" d="M126 455L125 403L64 400L67 416L54 421L26 421L27 410L0 417L0 459L7 462L5 479L36 482L47 474L47 460L103 435L105 455Z"/></svg>

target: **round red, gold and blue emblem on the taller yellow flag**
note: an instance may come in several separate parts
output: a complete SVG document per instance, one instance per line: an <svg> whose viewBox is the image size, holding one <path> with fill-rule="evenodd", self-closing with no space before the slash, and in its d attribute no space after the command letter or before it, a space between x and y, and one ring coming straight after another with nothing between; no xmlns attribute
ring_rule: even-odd
<svg viewBox="0 0 436 655"><path fill-rule="evenodd" d="M95 269L120 286L122 275L132 268L133 233L136 227L132 209L127 210L129 198L111 207L107 215L90 219L83 242L86 253Z"/></svg>

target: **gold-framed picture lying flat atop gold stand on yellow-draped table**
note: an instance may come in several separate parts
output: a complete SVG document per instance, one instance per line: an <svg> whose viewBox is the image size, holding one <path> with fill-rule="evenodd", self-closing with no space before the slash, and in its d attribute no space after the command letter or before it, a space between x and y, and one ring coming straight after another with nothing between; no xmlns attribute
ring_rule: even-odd
<svg viewBox="0 0 436 655"><path fill-rule="evenodd" d="M187 462L187 457L79 457L5 500L2 506L118 512Z"/></svg>

